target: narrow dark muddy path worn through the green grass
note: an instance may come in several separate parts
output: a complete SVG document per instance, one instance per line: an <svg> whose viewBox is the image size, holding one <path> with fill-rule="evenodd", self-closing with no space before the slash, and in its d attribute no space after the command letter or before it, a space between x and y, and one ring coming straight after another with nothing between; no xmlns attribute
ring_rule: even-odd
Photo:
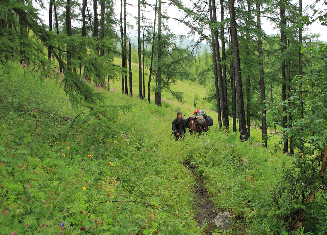
<svg viewBox="0 0 327 235"><path fill-rule="evenodd" d="M195 178L194 193L196 195L195 200L198 204L199 211L194 217L194 219L199 227L202 226L205 227L206 224L208 224L210 221L212 221L215 218L213 202L210 201L209 193L207 189L204 187L204 183L201 177L197 176L195 172L195 167L193 167L189 163L183 163L183 165L191 172L191 174ZM207 234L211 234L211 233L207 233Z"/></svg>

